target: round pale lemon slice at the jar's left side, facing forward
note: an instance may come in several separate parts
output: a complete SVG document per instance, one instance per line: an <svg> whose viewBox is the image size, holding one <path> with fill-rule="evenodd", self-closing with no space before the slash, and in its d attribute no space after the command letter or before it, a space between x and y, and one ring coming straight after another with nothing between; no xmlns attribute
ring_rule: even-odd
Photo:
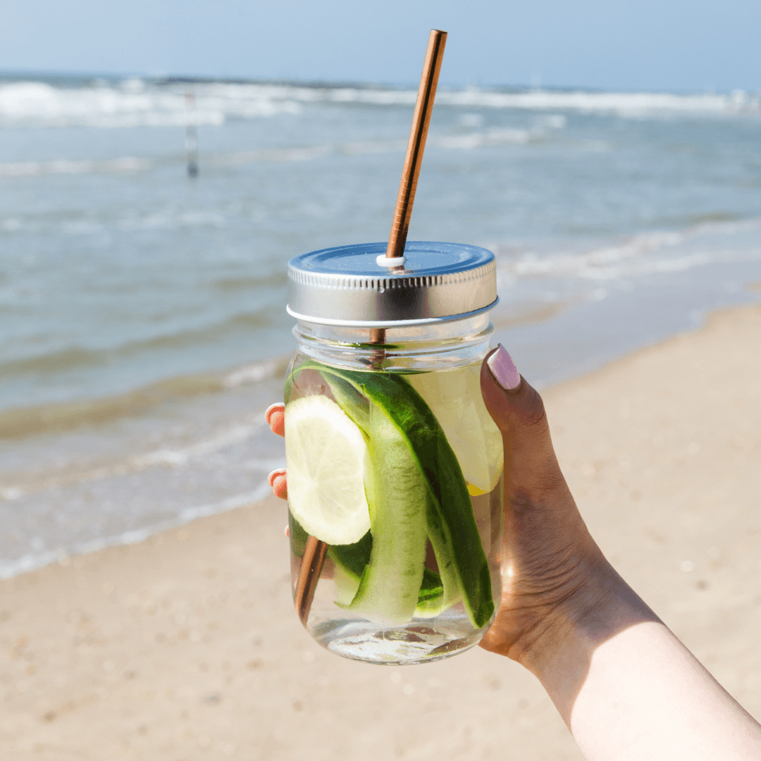
<svg viewBox="0 0 761 761"><path fill-rule="evenodd" d="M304 396L285 406L288 507L313 537L353 544L370 528L368 447L333 400Z"/></svg>

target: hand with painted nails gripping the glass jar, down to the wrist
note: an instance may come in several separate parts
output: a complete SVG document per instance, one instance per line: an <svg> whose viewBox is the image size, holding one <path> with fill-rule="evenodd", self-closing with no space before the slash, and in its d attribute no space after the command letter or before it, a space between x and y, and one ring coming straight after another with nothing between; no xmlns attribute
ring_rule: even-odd
<svg viewBox="0 0 761 761"><path fill-rule="evenodd" d="M595 575L618 577L568 491L542 399L517 373L505 349L484 360L481 388L505 447L503 594L481 646L531 667L534 651L542 653L544 640L557 626L559 610L577 604L579 597L588 598L585 604L594 607ZM285 435L285 405L272 404L265 418L273 433ZM268 480L275 496L287 498L285 469L273 470Z"/></svg>

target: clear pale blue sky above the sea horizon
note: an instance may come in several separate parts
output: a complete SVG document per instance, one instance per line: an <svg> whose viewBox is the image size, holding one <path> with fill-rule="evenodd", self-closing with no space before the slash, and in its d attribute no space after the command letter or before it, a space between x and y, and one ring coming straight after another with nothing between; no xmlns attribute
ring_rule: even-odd
<svg viewBox="0 0 761 761"><path fill-rule="evenodd" d="M759 0L0 0L0 72L761 90Z"/></svg>

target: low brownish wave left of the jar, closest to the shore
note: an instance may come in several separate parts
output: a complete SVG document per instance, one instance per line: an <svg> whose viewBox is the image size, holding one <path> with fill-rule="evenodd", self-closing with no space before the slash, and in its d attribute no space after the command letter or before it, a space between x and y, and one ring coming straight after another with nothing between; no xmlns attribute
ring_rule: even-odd
<svg viewBox="0 0 761 761"><path fill-rule="evenodd" d="M138 389L97 399L6 409L0 412L0 438L60 433L81 425L100 425L119 418L143 415L170 401L283 377L289 361L289 356L275 357L225 371L165 378Z"/></svg>

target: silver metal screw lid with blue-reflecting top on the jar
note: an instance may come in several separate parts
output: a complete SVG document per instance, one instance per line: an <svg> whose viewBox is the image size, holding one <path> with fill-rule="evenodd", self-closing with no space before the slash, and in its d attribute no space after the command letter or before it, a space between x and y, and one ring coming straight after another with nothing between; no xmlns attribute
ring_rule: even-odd
<svg viewBox="0 0 761 761"><path fill-rule="evenodd" d="M402 266L377 263L385 243L303 253L288 262L288 314L323 325L394 327L472 317L497 304L494 254L410 240Z"/></svg>

